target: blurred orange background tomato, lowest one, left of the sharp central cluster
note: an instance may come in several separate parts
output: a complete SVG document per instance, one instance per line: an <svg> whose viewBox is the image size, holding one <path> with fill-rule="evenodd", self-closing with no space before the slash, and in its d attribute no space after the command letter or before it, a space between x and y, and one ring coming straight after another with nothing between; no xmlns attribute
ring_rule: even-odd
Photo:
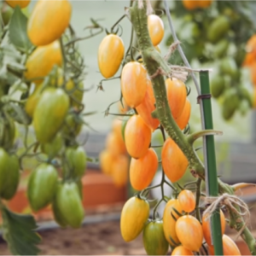
<svg viewBox="0 0 256 256"><path fill-rule="evenodd" d="M117 187L124 187L128 182L129 159L127 155L119 155L113 161L112 177Z"/></svg>

